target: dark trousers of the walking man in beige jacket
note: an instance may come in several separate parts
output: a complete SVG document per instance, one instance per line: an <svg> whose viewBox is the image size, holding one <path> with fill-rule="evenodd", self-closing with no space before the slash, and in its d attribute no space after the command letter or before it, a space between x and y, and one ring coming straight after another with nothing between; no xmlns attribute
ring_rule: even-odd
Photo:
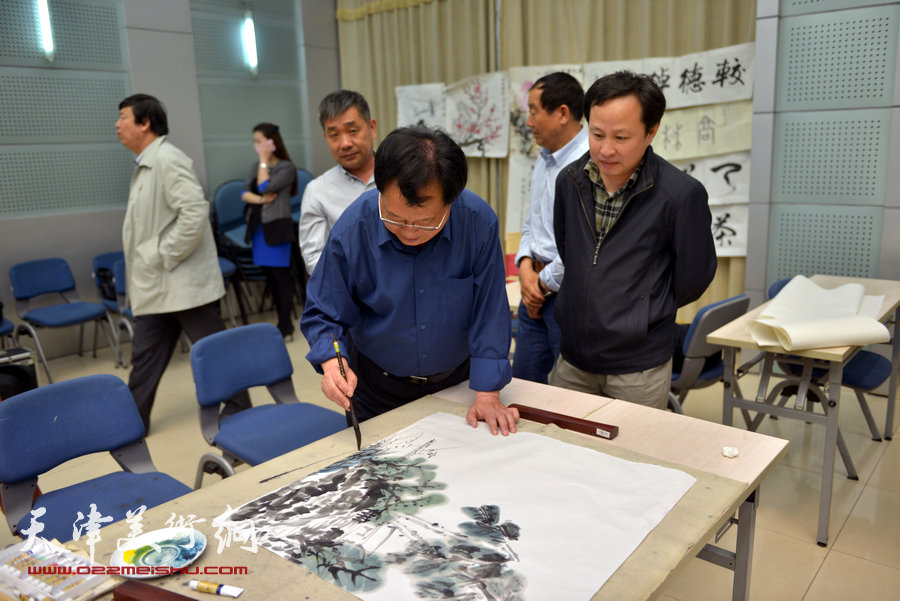
<svg viewBox="0 0 900 601"><path fill-rule="evenodd" d="M224 329L225 323L219 315L218 303L134 318L132 369L128 388L131 389L138 412L144 420L145 429L149 430L150 410L153 408L153 399L156 398L156 389L169 359L172 358L181 331L184 330L191 342L196 342ZM225 403L222 415L231 415L249 407L250 395L242 392Z"/></svg>

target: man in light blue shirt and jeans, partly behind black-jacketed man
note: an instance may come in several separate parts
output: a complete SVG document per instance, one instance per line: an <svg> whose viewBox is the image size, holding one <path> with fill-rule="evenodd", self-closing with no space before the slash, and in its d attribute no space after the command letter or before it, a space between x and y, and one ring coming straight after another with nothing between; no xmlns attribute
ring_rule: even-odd
<svg viewBox="0 0 900 601"><path fill-rule="evenodd" d="M568 73L556 72L534 82L528 92L528 121L542 148L531 175L531 206L516 254L522 302L512 374L547 383L559 356L560 330L553 315L563 264L553 234L556 176L588 150L581 126L584 90Z"/></svg>

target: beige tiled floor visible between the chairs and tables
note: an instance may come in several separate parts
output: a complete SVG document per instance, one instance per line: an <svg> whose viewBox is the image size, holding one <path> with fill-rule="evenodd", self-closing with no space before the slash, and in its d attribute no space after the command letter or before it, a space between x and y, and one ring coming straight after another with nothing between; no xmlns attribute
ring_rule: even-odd
<svg viewBox="0 0 900 601"><path fill-rule="evenodd" d="M319 376L304 359L308 347L302 336L295 334L288 349L300 398L335 408L325 400ZM63 357L51 361L50 367L58 381L94 373L127 379L126 370L113 367L109 351L101 351L97 359L89 354ZM743 386L752 389L753 383ZM685 412L720 421L721 395L721 386L693 392ZM268 402L264 390L252 391L251 396L254 403ZM885 405L883 398L870 397L879 427L884 424ZM157 468L192 486L197 460L209 447L200 435L187 354L176 351L151 419L147 443ZM741 423L739 418L736 423ZM873 442L849 392L842 399L840 423L859 481L845 477L838 459L826 548L815 541L824 428L787 419L766 419L760 427L762 433L789 439L791 448L761 488L751 580L755 601L900 599L900 443ZM52 490L113 469L116 465L108 454L81 458L43 476L40 484ZM206 478L212 481L217 476ZM12 541L3 528L0 548ZM719 544L734 548L734 533L726 534ZM731 572L697 559L658 597L663 601L730 598Z"/></svg>

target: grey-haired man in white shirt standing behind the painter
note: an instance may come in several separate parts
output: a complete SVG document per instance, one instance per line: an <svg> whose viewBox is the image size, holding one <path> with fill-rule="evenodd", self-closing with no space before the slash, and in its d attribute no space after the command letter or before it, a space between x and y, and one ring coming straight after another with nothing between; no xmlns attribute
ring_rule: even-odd
<svg viewBox="0 0 900 601"><path fill-rule="evenodd" d="M319 123L337 165L312 180L300 208L300 252L312 274L328 234L350 203L375 187L375 120L358 92L338 90L319 104Z"/></svg>

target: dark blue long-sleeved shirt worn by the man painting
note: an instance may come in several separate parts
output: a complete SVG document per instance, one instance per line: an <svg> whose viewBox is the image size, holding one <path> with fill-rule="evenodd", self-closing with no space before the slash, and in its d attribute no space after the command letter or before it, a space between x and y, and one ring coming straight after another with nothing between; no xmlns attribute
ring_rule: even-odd
<svg viewBox="0 0 900 601"><path fill-rule="evenodd" d="M395 376L430 376L471 357L469 386L509 383L511 321L497 216L468 190L421 249L401 243L378 217L378 191L341 215L306 288L300 329L313 367L359 351Z"/></svg>

